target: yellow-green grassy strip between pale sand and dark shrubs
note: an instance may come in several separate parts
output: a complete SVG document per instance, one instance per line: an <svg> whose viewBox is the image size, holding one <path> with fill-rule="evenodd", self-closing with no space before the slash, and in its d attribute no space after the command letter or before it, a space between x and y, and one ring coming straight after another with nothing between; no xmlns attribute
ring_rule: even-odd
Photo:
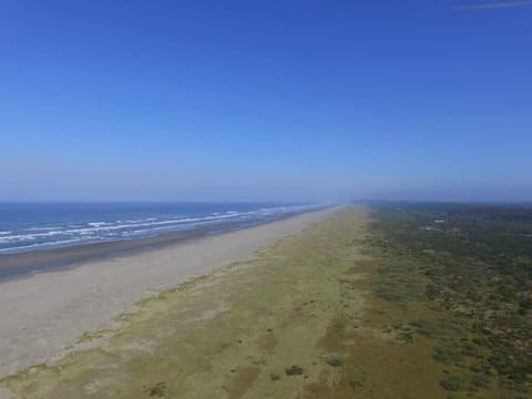
<svg viewBox="0 0 532 399"><path fill-rule="evenodd" d="M449 299L477 285L450 283L460 267L433 260L419 209L396 212L348 208L0 383L20 398L530 397L526 359L495 350L481 317ZM529 323L520 300L515 317Z"/></svg>

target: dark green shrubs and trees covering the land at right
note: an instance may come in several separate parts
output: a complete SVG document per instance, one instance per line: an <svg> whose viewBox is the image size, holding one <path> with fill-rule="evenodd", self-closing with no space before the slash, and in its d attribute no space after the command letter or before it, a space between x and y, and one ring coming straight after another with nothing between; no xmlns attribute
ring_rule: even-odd
<svg viewBox="0 0 532 399"><path fill-rule="evenodd" d="M487 389L497 374L501 386L528 391L532 207L379 206L371 229L370 247L410 262L399 274L408 278L415 268L427 277L424 294L437 311L410 325L419 335L439 341L433 358L478 372L471 377L472 390ZM397 289L388 288L382 295L378 288L377 295L399 303L411 298L408 285ZM450 390L459 386L450 377L441 385Z"/></svg>

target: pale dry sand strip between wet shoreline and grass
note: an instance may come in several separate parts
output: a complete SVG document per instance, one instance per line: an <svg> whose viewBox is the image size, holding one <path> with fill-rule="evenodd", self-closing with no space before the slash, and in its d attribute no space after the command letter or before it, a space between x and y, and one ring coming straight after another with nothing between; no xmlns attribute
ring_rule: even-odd
<svg viewBox="0 0 532 399"><path fill-rule="evenodd" d="M0 378L60 357L149 296L253 257L337 208L0 283Z"/></svg>

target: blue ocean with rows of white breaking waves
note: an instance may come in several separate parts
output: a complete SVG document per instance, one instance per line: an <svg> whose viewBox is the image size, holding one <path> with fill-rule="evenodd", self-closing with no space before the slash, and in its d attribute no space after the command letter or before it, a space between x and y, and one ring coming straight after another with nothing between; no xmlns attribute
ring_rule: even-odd
<svg viewBox="0 0 532 399"><path fill-rule="evenodd" d="M319 208L315 204L0 203L0 255L154 237L217 234Z"/></svg>

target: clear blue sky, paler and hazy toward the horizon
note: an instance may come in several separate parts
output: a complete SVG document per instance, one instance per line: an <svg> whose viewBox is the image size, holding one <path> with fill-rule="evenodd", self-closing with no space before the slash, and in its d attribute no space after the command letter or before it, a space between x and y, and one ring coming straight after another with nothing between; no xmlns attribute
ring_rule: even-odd
<svg viewBox="0 0 532 399"><path fill-rule="evenodd" d="M532 200L531 1L0 2L0 200Z"/></svg>

